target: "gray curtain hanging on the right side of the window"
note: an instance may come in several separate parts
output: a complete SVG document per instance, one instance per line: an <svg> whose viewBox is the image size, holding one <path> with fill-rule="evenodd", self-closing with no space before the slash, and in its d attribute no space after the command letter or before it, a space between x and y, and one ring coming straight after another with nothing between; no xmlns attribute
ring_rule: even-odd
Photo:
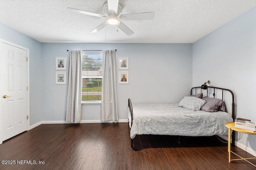
<svg viewBox="0 0 256 170"><path fill-rule="evenodd" d="M102 51L101 121L118 121L115 50Z"/></svg>

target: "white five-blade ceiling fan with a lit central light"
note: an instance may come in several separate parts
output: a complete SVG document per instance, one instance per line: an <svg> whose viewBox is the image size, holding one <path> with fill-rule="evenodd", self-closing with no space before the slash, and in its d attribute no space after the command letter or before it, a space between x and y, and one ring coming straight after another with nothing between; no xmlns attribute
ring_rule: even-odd
<svg viewBox="0 0 256 170"><path fill-rule="evenodd" d="M96 33L100 31L102 28L104 28L106 25L116 25L119 29L121 29L126 35L132 35L134 32L127 27L122 21L125 20L154 20L155 13L154 12L144 12L144 13L136 13L136 14L122 14L122 6L118 3L118 0L108 0L103 5L103 11L106 13L106 15L102 14L96 14L93 12L87 12L83 10L78 10L74 8L67 8L68 10L72 12L77 12L80 14L86 14L90 16L96 16L100 18L106 19L102 24L100 24L98 27L96 27L94 30L92 30L92 33ZM122 21L121 21L122 20Z"/></svg>

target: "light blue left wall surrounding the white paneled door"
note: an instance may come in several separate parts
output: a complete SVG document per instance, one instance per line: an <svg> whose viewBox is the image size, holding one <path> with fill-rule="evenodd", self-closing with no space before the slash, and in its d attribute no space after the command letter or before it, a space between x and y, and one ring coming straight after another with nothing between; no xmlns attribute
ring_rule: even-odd
<svg viewBox="0 0 256 170"><path fill-rule="evenodd" d="M42 121L42 44L0 23L0 39L29 49L30 62L30 125Z"/></svg>

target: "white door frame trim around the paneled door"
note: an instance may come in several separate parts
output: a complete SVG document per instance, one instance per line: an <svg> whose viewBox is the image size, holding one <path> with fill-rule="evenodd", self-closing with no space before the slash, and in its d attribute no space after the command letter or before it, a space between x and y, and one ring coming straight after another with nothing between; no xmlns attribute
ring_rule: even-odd
<svg viewBox="0 0 256 170"><path fill-rule="evenodd" d="M14 47L18 47L20 49L24 49L27 51L27 57L28 57L28 61L27 61L27 86L28 86L28 90L27 90L27 114L28 114L28 127L27 127L27 131L29 130L29 125L30 125L30 99L29 99L29 96L30 96L30 86L29 86L29 49L28 48L25 48L25 47L22 47L20 45L17 45L17 44L14 44L14 43L11 43L9 41L6 41L4 39L0 39L0 55L1 55L1 52L2 52L2 43L6 43L6 44L9 44L9 45L12 45ZM0 56L0 63L2 63L2 56ZM1 73L1 69L0 69L0 82L2 77L1 77L2 73ZM2 122L3 122L3 119L2 119L2 84L0 83L0 144L3 143L2 141Z"/></svg>

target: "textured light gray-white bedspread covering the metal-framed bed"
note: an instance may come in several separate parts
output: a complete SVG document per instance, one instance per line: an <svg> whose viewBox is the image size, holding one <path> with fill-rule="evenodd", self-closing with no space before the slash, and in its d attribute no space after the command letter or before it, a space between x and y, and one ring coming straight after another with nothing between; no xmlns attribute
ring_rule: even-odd
<svg viewBox="0 0 256 170"><path fill-rule="evenodd" d="M233 121L226 112L190 111L178 104L135 103L130 137L136 135L212 136L228 135L224 123Z"/></svg>

